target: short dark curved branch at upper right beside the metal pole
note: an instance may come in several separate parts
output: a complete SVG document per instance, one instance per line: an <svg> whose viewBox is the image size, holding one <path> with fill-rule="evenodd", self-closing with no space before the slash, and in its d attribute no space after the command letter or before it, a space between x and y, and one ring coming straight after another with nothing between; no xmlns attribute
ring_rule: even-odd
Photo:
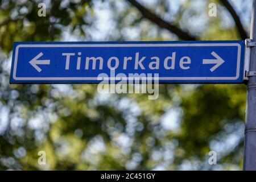
<svg viewBox="0 0 256 182"><path fill-rule="evenodd" d="M232 15L232 18L234 19L234 22L236 23L239 35L242 39L247 39L247 32L243 28L243 25L241 23L241 20L239 16L237 15L236 11L234 10L233 6L229 3L228 0L220 0L222 5L226 7L226 9L229 11L229 13Z"/></svg>

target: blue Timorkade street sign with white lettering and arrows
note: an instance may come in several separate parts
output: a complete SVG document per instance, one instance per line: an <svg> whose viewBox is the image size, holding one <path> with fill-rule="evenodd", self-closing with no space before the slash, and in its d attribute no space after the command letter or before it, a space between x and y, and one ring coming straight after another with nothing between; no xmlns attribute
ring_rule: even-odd
<svg viewBox="0 0 256 182"><path fill-rule="evenodd" d="M239 41L15 42L10 83L241 83Z"/></svg>

